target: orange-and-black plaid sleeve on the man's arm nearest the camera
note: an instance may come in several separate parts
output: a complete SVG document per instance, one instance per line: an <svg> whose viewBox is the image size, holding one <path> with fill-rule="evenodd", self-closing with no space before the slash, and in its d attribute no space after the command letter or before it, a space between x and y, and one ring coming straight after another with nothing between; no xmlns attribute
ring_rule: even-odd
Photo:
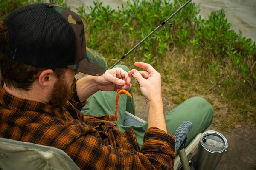
<svg viewBox="0 0 256 170"><path fill-rule="evenodd" d="M92 135L75 139L64 151L81 170L169 170L175 158L174 137L157 128L146 131L141 152L102 145Z"/></svg>

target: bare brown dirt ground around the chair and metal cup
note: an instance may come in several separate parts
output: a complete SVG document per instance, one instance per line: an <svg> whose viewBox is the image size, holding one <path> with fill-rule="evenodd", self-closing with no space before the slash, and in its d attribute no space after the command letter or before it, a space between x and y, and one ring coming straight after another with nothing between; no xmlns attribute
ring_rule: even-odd
<svg viewBox="0 0 256 170"><path fill-rule="evenodd" d="M136 116L148 120L148 107L145 98L133 93ZM164 112L174 106L163 100ZM208 130L221 132L229 144L219 163L220 170L256 170L256 130L249 125L238 125L230 131L219 130L213 123Z"/></svg>

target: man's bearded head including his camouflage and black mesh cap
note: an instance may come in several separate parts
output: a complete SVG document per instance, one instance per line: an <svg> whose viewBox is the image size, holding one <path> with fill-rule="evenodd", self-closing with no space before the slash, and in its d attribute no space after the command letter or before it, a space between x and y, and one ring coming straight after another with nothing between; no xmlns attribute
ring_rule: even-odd
<svg viewBox="0 0 256 170"><path fill-rule="evenodd" d="M24 6L0 21L0 55L8 88L41 89L55 106L67 101L78 71L97 76L106 70L104 57L85 45L81 18L52 4Z"/></svg>

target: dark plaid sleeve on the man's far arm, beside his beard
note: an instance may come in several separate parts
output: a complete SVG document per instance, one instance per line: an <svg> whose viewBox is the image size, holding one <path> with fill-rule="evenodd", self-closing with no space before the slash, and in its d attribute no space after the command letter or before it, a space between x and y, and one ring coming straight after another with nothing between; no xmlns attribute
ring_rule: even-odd
<svg viewBox="0 0 256 170"><path fill-rule="evenodd" d="M86 104L86 100L84 102L80 102L79 97L77 96L77 92L76 92L76 82L77 79L75 78L72 84L72 93L70 96L70 99L68 100L77 110L81 110L82 107L85 106Z"/></svg>

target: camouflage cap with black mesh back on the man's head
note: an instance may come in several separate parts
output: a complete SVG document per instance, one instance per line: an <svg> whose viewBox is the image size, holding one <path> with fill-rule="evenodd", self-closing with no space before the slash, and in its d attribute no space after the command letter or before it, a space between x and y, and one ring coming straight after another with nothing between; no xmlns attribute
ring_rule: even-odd
<svg viewBox="0 0 256 170"><path fill-rule="evenodd" d="M105 58L86 47L84 24L79 15L51 3L23 6L4 19L9 30L6 57L41 68L69 67L102 75Z"/></svg>

